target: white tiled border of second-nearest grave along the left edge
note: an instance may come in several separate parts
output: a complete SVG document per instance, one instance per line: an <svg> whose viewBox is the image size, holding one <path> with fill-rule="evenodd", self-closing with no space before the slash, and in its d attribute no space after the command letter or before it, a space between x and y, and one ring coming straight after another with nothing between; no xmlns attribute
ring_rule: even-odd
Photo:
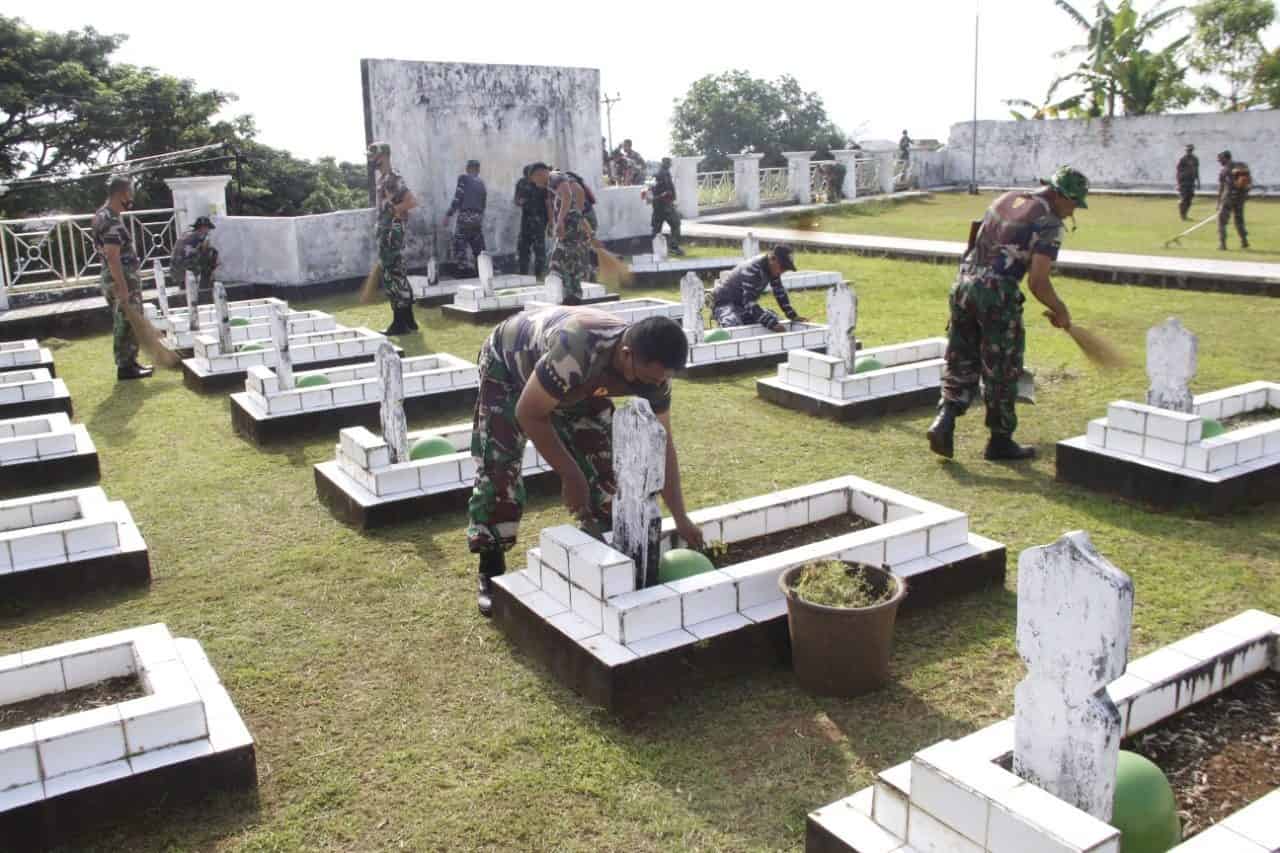
<svg viewBox="0 0 1280 853"><path fill-rule="evenodd" d="M124 502L97 485L0 501L0 578L146 547Z"/></svg>

